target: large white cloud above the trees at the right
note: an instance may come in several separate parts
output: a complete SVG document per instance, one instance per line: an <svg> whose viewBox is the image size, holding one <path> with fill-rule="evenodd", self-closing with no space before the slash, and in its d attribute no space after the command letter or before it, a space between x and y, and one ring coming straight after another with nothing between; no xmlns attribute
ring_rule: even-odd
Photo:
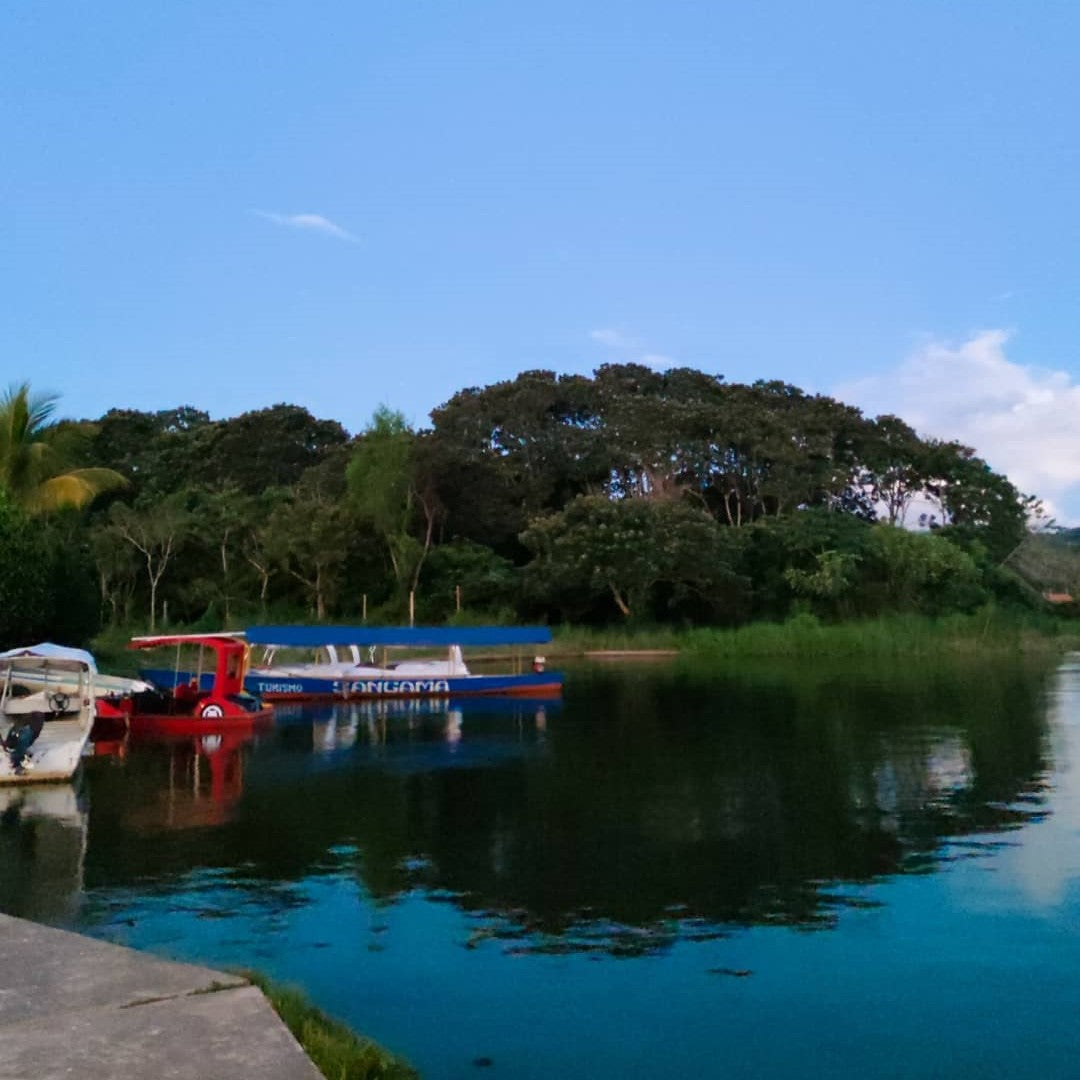
<svg viewBox="0 0 1080 1080"><path fill-rule="evenodd" d="M1080 518L1080 384L1005 355L1009 334L928 341L893 370L837 387L869 415L892 413L920 434L958 440L1051 512Z"/></svg>

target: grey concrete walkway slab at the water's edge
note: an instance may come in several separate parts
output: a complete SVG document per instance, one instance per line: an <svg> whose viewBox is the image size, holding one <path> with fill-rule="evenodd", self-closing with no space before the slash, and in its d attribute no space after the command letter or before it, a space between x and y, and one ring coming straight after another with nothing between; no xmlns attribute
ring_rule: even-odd
<svg viewBox="0 0 1080 1080"><path fill-rule="evenodd" d="M0 915L0 1080L321 1080L233 975Z"/></svg>

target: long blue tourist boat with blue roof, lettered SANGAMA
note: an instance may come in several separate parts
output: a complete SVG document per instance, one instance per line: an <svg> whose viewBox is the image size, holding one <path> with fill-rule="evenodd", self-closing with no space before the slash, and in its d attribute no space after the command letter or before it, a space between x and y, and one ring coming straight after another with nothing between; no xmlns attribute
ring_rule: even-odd
<svg viewBox="0 0 1080 1080"><path fill-rule="evenodd" d="M526 663L523 646L551 642L546 626L249 626L242 636L260 646L244 689L264 701L316 698L459 698L474 696L552 698L562 693L563 677L545 670L543 657ZM474 673L462 649L514 647L508 673ZM284 659L286 650L314 651L311 661ZM445 658L390 659L391 650L445 649ZM159 686L185 678L187 672L146 671Z"/></svg>

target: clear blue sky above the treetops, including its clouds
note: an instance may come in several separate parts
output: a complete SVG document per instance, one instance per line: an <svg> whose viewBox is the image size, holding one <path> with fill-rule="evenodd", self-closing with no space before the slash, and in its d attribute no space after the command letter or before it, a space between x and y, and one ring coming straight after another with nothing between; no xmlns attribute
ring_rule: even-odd
<svg viewBox="0 0 1080 1080"><path fill-rule="evenodd" d="M0 376L357 430L647 357L842 390L1080 513L1078 32L1015 0L14 2Z"/></svg>

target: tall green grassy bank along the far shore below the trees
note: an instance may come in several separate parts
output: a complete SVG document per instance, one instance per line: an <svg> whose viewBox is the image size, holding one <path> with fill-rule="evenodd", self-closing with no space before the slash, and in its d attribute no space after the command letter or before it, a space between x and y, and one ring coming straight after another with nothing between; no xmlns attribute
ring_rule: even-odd
<svg viewBox="0 0 1080 1080"><path fill-rule="evenodd" d="M732 660L1065 652L1080 649L1080 623L986 609L940 619L891 616L840 623L796 616L735 630L558 627L551 653L582 656L607 649L677 649L681 654Z"/></svg>

